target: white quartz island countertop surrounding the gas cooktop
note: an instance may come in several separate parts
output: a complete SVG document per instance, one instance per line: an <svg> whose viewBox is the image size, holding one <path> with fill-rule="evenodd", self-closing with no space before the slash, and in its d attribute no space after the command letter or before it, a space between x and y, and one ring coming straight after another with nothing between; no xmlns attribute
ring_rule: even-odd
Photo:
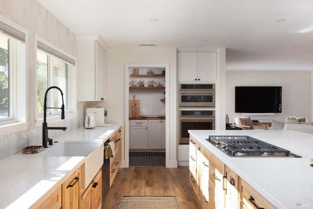
<svg viewBox="0 0 313 209"><path fill-rule="evenodd" d="M246 183L278 209L313 209L313 135L280 130L189 130ZM209 135L244 135L259 139L291 153L294 157L230 157L205 139Z"/></svg>

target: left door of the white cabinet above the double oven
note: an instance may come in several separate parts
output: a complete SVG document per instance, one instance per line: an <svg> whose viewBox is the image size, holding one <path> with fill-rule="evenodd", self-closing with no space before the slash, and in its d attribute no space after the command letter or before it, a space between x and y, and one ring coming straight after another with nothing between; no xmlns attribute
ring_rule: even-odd
<svg viewBox="0 0 313 209"><path fill-rule="evenodd" d="M178 81L197 80L197 52L178 53Z"/></svg>

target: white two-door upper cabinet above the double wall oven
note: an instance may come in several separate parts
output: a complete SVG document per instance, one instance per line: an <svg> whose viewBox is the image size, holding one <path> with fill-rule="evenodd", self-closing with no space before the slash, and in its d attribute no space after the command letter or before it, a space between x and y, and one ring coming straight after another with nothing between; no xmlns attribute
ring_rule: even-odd
<svg viewBox="0 0 313 209"><path fill-rule="evenodd" d="M179 82L216 81L216 52L179 52Z"/></svg>

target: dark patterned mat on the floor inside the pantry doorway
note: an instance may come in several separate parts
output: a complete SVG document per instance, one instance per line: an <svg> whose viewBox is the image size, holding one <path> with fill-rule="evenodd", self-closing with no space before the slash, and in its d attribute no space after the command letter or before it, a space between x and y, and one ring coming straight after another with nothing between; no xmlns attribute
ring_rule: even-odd
<svg viewBox="0 0 313 209"><path fill-rule="evenodd" d="M129 166L165 166L165 152L130 152Z"/></svg>

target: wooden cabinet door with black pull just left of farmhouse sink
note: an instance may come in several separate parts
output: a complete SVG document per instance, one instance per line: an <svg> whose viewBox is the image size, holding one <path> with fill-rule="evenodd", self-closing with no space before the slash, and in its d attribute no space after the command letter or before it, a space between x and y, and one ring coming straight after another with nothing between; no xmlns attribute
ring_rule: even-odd
<svg viewBox="0 0 313 209"><path fill-rule="evenodd" d="M81 171L78 168L62 184L62 209L79 209L81 200Z"/></svg>

